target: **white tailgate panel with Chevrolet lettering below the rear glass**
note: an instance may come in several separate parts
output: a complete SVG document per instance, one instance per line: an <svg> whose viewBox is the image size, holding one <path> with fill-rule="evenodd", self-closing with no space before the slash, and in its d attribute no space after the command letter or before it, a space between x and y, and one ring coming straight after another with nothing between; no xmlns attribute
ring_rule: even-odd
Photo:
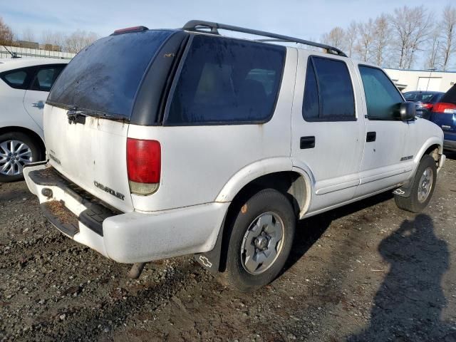
<svg viewBox="0 0 456 342"><path fill-rule="evenodd" d="M128 124L86 117L68 123L67 110L44 108L44 135L51 165L72 182L123 212L133 211L128 185Z"/></svg>

